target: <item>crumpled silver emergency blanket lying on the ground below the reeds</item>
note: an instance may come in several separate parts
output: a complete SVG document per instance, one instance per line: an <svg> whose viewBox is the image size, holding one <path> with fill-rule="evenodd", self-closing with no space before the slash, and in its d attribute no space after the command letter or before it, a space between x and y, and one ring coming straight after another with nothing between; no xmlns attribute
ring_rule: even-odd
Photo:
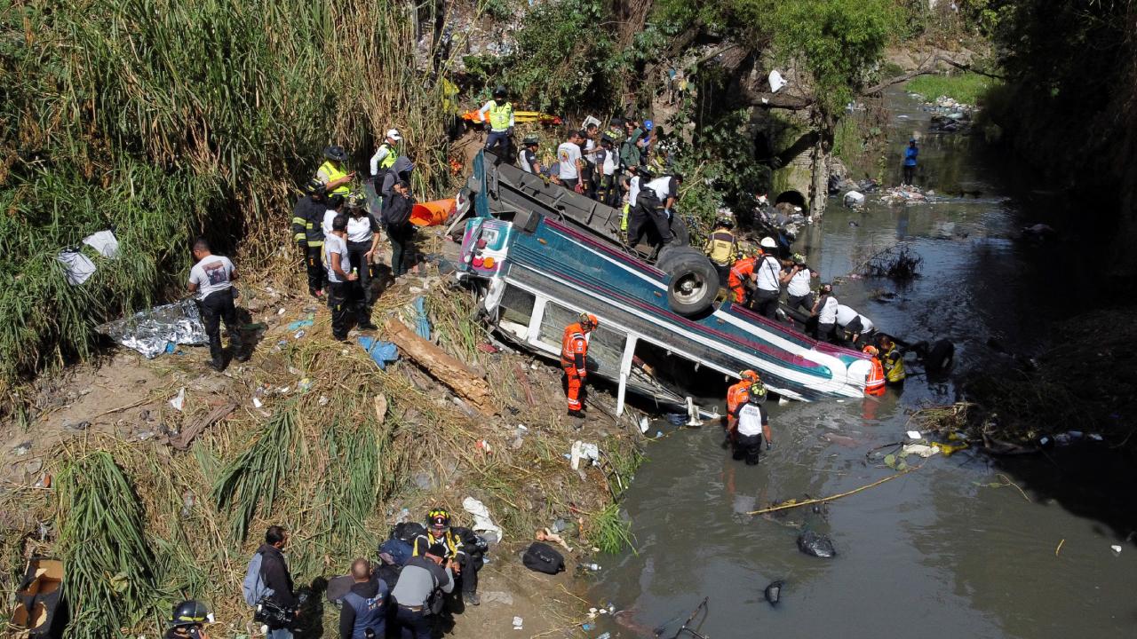
<svg viewBox="0 0 1137 639"><path fill-rule="evenodd" d="M208 342L205 324L192 299L140 310L96 330L148 358L164 352L171 342L191 346Z"/></svg>

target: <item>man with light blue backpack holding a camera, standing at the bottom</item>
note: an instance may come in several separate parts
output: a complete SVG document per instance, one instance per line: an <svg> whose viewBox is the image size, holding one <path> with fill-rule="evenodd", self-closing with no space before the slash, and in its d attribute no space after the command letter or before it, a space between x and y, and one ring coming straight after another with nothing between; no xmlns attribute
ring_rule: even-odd
<svg viewBox="0 0 1137 639"><path fill-rule="evenodd" d="M291 628L300 608L284 558L287 543L284 526L268 526L265 542L257 548L244 575L244 603L256 611L254 620L268 626L267 639L292 639Z"/></svg>

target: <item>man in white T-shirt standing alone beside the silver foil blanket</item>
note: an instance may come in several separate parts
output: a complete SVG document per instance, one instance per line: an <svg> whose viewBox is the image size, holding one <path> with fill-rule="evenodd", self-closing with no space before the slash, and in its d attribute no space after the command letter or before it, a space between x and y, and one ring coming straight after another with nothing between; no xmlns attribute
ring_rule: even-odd
<svg viewBox="0 0 1137 639"><path fill-rule="evenodd" d="M222 320L229 332L233 358L238 362L249 359L249 355L241 348L241 329L236 323L236 307L233 305L236 272L227 257L210 252L209 242L204 239L193 242L193 258L198 263L190 268L189 290L196 293L201 323L209 337L209 366L221 372L225 370L224 350L221 347Z"/></svg>

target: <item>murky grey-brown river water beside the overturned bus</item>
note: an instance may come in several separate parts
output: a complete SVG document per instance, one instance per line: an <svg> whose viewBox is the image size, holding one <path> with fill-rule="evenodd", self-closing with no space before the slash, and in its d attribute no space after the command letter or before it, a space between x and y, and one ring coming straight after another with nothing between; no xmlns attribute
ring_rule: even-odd
<svg viewBox="0 0 1137 639"><path fill-rule="evenodd" d="M891 474L865 453L902 439L908 410L951 403L953 379L1002 357L986 346L991 338L1029 354L1077 297L1081 275L1068 258L1018 239L1024 223L1054 215L1048 193L1037 184L1031 191L979 140L927 135L928 114L903 92L888 103L891 180L899 177L904 142L920 132L918 182L951 199L888 207L870 197L861 213L835 201L798 246L829 280L873 250L907 242L923 258L920 279L907 287L853 280L838 297L896 334L951 339L953 376L912 377L880 401L772 405L775 446L757 466L733 462L716 425L649 442L623 501L636 553L599 557L590 592L633 611L629 619L641 628L601 617L590 636L650 637L649 629L679 616L663 634L672 637L709 597L698 626L708 638L1137 637L1137 546L1093 512L1074 514L1080 509L1069 507L1069 497L1056 500L1024 484L1028 501L1014 487L989 486L1005 483L1001 473L1024 481L982 456L931 457L820 513L746 514ZM878 289L897 298L877 301ZM1061 488L1061 478L1052 480ZM838 555L799 553L803 526L829 534ZM774 608L763 589L779 579L786 586Z"/></svg>

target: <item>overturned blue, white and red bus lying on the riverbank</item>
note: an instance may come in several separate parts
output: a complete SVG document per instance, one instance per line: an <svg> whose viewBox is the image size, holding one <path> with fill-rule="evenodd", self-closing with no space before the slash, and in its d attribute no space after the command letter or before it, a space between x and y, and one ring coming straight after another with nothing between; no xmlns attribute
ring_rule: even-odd
<svg viewBox="0 0 1137 639"><path fill-rule="evenodd" d="M617 412L629 392L672 407L717 396L722 375L746 368L791 399L863 396L868 356L717 301L702 251L677 247L649 264L621 242L619 210L493 160L480 153L459 194L473 217L458 276L506 341L559 359L564 327L596 315L588 368L616 385Z"/></svg>

